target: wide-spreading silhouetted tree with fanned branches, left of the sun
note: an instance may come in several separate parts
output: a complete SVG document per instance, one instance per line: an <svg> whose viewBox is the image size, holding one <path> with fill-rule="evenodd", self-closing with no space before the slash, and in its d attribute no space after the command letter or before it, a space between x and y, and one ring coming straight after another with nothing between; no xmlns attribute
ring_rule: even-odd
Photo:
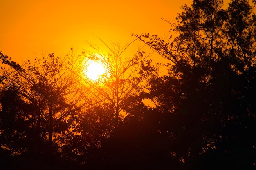
<svg viewBox="0 0 256 170"><path fill-rule="evenodd" d="M45 154L51 163L72 130L73 119L86 107L78 77L65 68L78 67L71 57L60 59L53 53L23 66L9 66L2 82L1 145L16 155Z"/></svg>

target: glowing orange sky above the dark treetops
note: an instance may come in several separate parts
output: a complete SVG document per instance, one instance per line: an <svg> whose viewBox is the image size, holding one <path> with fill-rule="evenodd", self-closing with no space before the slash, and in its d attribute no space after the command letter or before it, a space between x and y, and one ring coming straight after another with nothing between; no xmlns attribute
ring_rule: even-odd
<svg viewBox="0 0 256 170"><path fill-rule="evenodd" d="M131 33L169 35L181 5L192 0L0 0L0 51L21 62L35 55L86 49L85 40L126 44Z"/></svg>

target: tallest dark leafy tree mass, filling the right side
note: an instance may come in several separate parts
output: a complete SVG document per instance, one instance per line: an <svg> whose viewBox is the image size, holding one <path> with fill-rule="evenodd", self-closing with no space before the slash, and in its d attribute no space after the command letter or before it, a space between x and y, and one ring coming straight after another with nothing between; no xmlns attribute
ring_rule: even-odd
<svg viewBox="0 0 256 170"><path fill-rule="evenodd" d="M226 10L222 3L194 0L191 7L184 5L171 30L178 35L168 42L157 35L137 35L170 60L169 74L152 79L148 96L156 100L161 112L170 114L163 126L180 168L202 166L199 157L207 152L222 152L221 157L229 162L225 168L253 167L255 113L245 89L255 77L255 16L247 0L232 0ZM249 126L251 130L246 130ZM236 157L225 155L226 144L234 145L229 152ZM221 168L216 158L212 163Z"/></svg>

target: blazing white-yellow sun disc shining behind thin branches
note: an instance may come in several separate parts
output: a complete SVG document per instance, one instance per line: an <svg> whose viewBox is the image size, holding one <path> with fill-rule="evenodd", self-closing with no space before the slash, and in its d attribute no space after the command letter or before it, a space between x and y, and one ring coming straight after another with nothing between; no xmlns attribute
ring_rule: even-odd
<svg viewBox="0 0 256 170"><path fill-rule="evenodd" d="M85 69L85 75L87 77L89 77L93 81L96 81L104 73L106 73L106 70L102 64L94 62L92 60L88 61L88 66Z"/></svg>

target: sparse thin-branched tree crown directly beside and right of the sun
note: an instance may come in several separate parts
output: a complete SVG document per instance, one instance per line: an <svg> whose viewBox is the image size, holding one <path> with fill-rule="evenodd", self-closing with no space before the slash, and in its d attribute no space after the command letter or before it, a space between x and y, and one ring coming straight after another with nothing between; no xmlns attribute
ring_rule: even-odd
<svg viewBox="0 0 256 170"><path fill-rule="evenodd" d="M129 103L128 99L139 96L148 88L147 80L155 69L151 67L151 60L146 60L148 55L145 51L138 49L133 55L125 54L126 49L134 41L124 47L118 43L108 45L102 40L101 42L107 47L106 52L88 42L93 52L85 51L82 55L87 59L101 62L106 73L97 82L89 78L85 82L93 97L112 110L117 126L120 118L124 116L121 112Z"/></svg>

